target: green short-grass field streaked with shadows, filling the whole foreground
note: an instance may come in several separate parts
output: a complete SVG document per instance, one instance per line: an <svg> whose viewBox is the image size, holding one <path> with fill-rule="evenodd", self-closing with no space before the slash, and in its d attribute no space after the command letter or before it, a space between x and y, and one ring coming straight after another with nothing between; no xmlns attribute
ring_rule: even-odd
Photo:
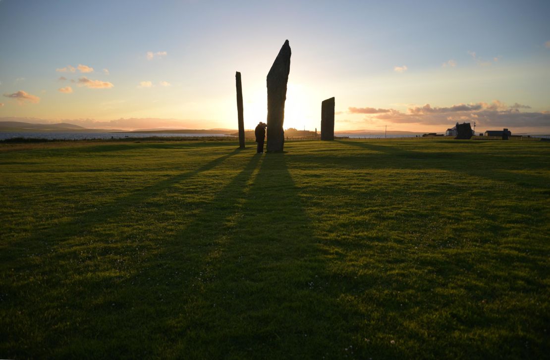
<svg viewBox="0 0 550 360"><path fill-rule="evenodd" d="M1 358L544 358L550 143L0 146Z"/></svg>

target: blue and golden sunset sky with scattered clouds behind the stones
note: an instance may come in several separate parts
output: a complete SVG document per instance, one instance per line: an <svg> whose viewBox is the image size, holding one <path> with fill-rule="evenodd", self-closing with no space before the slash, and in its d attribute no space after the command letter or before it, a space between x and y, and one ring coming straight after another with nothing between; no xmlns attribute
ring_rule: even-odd
<svg viewBox="0 0 550 360"><path fill-rule="evenodd" d="M267 115L292 48L284 128L550 133L550 1L0 0L0 121L236 129Z"/></svg>

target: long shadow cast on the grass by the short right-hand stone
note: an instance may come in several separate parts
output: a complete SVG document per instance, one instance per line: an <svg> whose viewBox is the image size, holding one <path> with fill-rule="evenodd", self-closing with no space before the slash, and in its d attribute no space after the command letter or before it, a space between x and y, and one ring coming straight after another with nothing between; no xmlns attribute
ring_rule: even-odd
<svg viewBox="0 0 550 360"><path fill-rule="evenodd" d="M371 169L415 169L428 173L427 176L430 176L432 179L437 179L438 176L442 176L440 174L443 174L443 171L447 171L451 174L448 178L443 178L445 180L440 181L437 187L432 187L430 192L417 193L416 201L419 205L423 203L423 206L426 206L426 204L432 206L433 204L437 204L437 202L431 203L431 198L437 201L443 197L447 197L451 202L474 209L474 214L470 214L469 219L471 220L477 217L478 221L482 221L485 225L477 230L477 234L467 234L466 236L469 238L473 236L477 241L483 242L485 237L492 238L493 236L504 236L509 232L509 229L516 227L518 223L537 224L544 222L544 213L546 209L543 203L524 202L523 197L525 196L524 194L532 196L533 193L538 193L541 197L547 196L548 187L546 184L548 179L536 174L513 172L513 170L518 169L531 171L540 169L540 163L536 163L533 160L529 161L530 159L528 157L524 159L520 155L509 158L504 156L494 158L493 152L490 151L487 153L487 150L485 152L464 153L459 152L460 150L457 148L457 151L454 152L447 151L437 153L410 151L395 147L393 144L393 146L383 146L359 141L338 142L350 147L353 146L376 151L365 152L364 154L360 153L357 156L359 159L353 157L341 159L342 161L340 161L339 164L344 167L349 167L353 164L358 165L357 168L365 171ZM472 144L463 142L460 143L460 146L469 147L470 145L475 146L474 144L477 144L477 142ZM452 149L455 149L455 146L453 146ZM430 174L429 172L431 170L443 171ZM412 174L411 171L408 171L408 173ZM464 175L467 175L468 178L464 177ZM485 179L489 181L485 181ZM391 179L388 178L388 181L391 181ZM408 186L404 187L404 189L410 189L415 186L415 184L411 182L407 185ZM454 189L452 186L454 186ZM365 187L368 188L368 184L365 184ZM399 189L391 185L388 185L387 188L392 189L392 193L386 195L390 198L395 195L403 196L405 194L403 192L399 193ZM383 189L384 188L382 188L382 190ZM498 192L499 189L502 189L500 193ZM346 189L345 192L348 193L349 196L361 196L361 193L364 191L359 190L354 192L353 190ZM491 211L494 210L494 208L488 209L483 207L483 204L487 204L489 200L491 200L491 196L488 196L487 192L494 192L492 197L497 200L502 198L508 201L498 203L498 206L505 207L507 209L506 211L515 215L515 217L513 219L509 217L503 218L498 211ZM445 193L448 195L445 195ZM453 195L460 193L464 194L463 196L465 197L460 200L453 197ZM444 206L450 209L448 204ZM494 203L492 206L494 206ZM431 209L431 212L433 212L434 209ZM411 215L414 214L411 219L419 219L420 212L416 212L419 211L419 209L409 209L409 211L411 210ZM424 212L423 216L432 215L431 212ZM453 219L449 219L448 224L453 221ZM430 224L428 224L428 226L430 226ZM466 228L464 230L466 232L469 231ZM484 232L486 235L482 235ZM460 237L461 231L456 232L455 235Z"/></svg>

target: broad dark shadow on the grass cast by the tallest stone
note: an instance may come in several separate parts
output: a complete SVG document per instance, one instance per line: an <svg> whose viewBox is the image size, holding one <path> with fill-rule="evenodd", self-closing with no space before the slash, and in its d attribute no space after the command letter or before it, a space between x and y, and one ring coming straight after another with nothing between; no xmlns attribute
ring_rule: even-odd
<svg viewBox="0 0 550 360"><path fill-rule="evenodd" d="M212 249L215 256L208 257L204 278L195 281L186 311L167 321L176 356L334 358L353 353L346 347L356 344L364 314L346 301L346 289L353 284L331 272L334 255L314 235L285 154L264 158L228 230Z"/></svg>

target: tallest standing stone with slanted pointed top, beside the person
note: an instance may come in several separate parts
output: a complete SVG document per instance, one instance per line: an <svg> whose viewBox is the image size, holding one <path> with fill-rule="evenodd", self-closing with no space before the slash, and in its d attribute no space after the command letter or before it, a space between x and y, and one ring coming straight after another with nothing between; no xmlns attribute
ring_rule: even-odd
<svg viewBox="0 0 550 360"><path fill-rule="evenodd" d="M284 102L287 99L290 54L287 40L267 74L267 152L283 151Z"/></svg>

